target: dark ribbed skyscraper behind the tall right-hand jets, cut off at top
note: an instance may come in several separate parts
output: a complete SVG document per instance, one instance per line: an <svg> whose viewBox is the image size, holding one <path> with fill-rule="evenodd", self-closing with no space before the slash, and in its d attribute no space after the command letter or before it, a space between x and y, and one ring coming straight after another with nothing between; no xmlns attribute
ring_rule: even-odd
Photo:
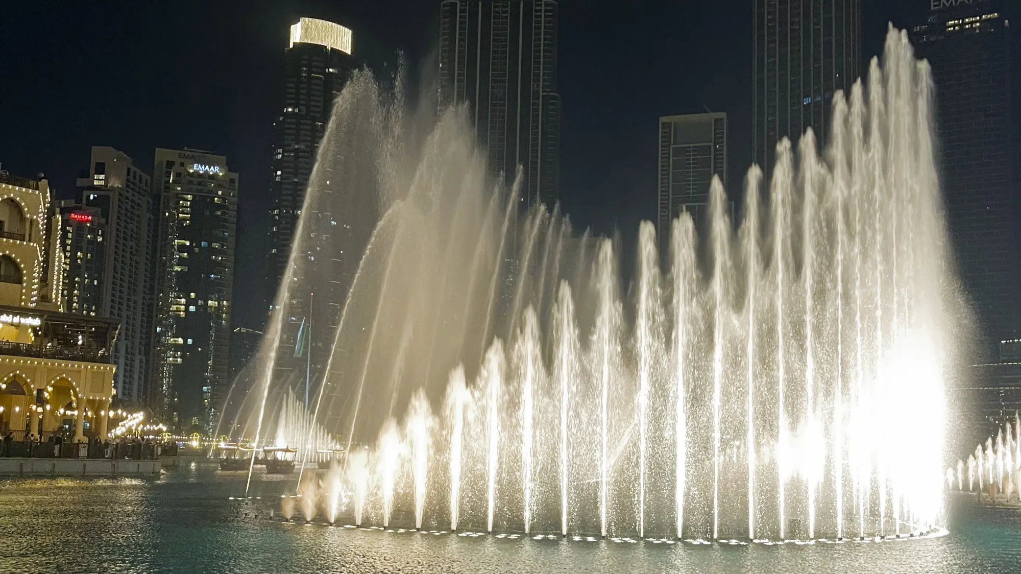
<svg viewBox="0 0 1021 574"><path fill-rule="evenodd" d="M833 94L859 78L860 0L755 0L752 154L772 174L776 144L829 137Z"/></svg>

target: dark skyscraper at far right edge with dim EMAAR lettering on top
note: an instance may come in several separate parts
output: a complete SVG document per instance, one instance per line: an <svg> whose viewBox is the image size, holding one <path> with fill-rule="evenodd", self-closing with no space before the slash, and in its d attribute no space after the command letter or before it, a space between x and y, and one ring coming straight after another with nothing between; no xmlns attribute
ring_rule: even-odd
<svg viewBox="0 0 1021 574"><path fill-rule="evenodd" d="M1021 334L1006 3L931 0L927 7L924 21L911 31L912 42L932 66L954 251L984 347L994 357L1000 341Z"/></svg>

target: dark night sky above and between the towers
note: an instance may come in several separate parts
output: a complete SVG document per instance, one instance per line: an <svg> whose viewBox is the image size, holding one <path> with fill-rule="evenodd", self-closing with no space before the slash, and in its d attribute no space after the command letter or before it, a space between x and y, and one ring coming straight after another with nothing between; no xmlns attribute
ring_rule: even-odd
<svg viewBox="0 0 1021 574"><path fill-rule="evenodd" d="M887 21L906 26L928 0L863 5L864 59L882 49ZM398 51L412 68L431 69L439 0L0 6L3 169L42 172L61 198L70 198L92 145L125 151L149 173L157 146L227 155L241 177L235 326L257 327L264 314L271 129L282 106L290 23L307 15L350 28L355 55L378 74L393 69ZM641 219L653 219L661 115L726 111L728 177L736 189L750 161L751 1L560 6L561 196L576 227L620 229L627 242ZM1015 34L1015 44L1019 39Z"/></svg>

